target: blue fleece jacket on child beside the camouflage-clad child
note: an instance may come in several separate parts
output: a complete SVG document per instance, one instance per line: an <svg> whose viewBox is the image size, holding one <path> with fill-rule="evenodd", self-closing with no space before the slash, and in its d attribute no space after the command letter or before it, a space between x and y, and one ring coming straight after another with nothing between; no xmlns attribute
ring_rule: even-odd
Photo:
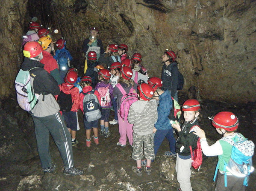
<svg viewBox="0 0 256 191"><path fill-rule="evenodd" d="M155 123L155 128L157 130L167 130L172 128L170 120L168 119L172 107L171 93L170 91L165 90L165 92L159 96L159 104L157 107L158 118Z"/></svg>

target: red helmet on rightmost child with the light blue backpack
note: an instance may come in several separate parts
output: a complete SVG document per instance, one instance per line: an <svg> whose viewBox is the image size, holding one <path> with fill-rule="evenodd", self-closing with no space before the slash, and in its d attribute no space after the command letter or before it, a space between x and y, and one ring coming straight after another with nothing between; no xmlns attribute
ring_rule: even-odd
<svg viewBox="0 0 256 191"><path fill-rule="evenodd" d="M227 131L234 131L238 128L238 118L229 111L221 111L212 118L212 125L215 128L224 128Z"/></svg>

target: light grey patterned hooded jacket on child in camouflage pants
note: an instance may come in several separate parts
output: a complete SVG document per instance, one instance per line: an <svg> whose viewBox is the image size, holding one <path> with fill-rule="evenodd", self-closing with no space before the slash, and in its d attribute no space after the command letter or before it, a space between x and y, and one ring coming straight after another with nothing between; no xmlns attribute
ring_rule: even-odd
<svg viewBox="0 0 256 191"><path fill-rule="evenodd" d="M153 127L157 120L156 100L138 100L130 106L128 122L134 123L133 131L139 135L153 133Z"/></svg>

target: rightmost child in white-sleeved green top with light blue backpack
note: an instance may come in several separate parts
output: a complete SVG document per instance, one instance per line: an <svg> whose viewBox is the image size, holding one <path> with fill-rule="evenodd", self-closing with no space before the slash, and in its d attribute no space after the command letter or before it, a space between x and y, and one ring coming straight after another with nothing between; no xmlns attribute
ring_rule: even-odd
<svg viewBox="0 0 256 191"><path fill-rule="evenodd" d="M218 156L214 181L217 175L215 191L245 191L248 185L248 176L253 171L252 157L254 144L246 140L238 128L238 118L229 111L221 111L213 117L212 125L223 137L209 146L205 133L200 128L194 129L199 136L203 154Z"/></svg>

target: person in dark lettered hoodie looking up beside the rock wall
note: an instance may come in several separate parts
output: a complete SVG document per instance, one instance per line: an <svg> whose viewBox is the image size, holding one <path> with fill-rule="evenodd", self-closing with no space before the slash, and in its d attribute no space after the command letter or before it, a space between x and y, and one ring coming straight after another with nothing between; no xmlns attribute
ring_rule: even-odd
<svg viewBox="0 0 256 191"><path fill-rule="evenodd" d="M177 56L173 51L166 49L165 53L162 55L162 61L164 64L162 69L162 90L171 91L171 97L177 100L177 90L183 87L183 76L179 72L177 67L176 59ZM177 98L176 98L177 97Z"/></svg>

